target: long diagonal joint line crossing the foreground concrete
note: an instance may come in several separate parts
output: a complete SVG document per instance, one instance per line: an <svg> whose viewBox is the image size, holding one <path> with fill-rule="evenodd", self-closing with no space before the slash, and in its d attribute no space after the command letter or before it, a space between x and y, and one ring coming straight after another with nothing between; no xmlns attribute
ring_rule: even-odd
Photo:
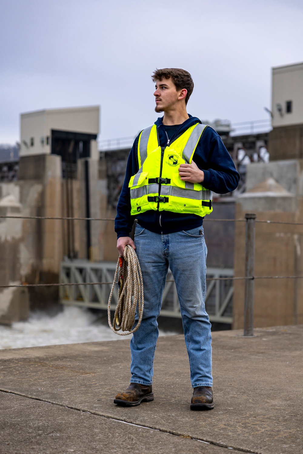
<svg viewBox="0 0 303 454"><path fill-rule="evenodd" d="M224 443L218 443L216 441L209 440L209 439L197 438L197 437L194 437L192 435L182 434L180 432L176 432L174 430L163 429L163 428L160 428L160 427L155 427L155 426L151 426L151 425L147 425L147 424L136 424L136 423L134 423L134 422L132 422L132 421L130 421L128 419L115 418L113 416L105 415L104 413L100 413L98 411L87 410L87 409L75 407L73 405L61 404L60 402L54 402L53 400L41 399L40 397L35 397L35 396L24 394L24 393L19 393L17 391L10 391L10 390L5 390L5 389L0 388L0 392L7 393L7 394L12 394L12 395L17 395L17 396L21 396L21 397L26 397L28 399L38 400L40 402L45 402L45 403L48 403L48 404L58 405L59 407L69 408L70 410L76 410L76 411L79 411L79 412L90 413L91 415L100 416L102 418L106 418L106 419L109 419L109 420L112 420L112 421L116 421L116 422L120 422L120 423L123 423L123 424L133 425L135 427L142 427L144 429L151 429L151 430L155 430L155 431L158 431L158 432L164 432L166 434L175 435L175 436L180 437L180 438L188 438L188 439L192 439L192 440L199 441L199 442L202 442L202 443L212 444L212 445L218 446L220 448L232 449L234 451L243 452L243 453L263 454L261 451L252 451L251 449L239 448L238 446L228 446L227 444L224 444Z"/></svg>

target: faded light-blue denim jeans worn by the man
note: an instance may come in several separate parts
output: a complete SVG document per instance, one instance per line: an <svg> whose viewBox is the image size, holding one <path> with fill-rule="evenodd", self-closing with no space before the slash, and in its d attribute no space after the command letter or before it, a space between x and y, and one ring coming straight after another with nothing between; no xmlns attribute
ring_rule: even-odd
<svg viewBox="0 0 303 454"><path fill-rule="evenodd" d="M134 243L144 286L144 311L130 341L131 383L151 385L165 279L176 282L192 387L212 386L211 324L205 311L206 255L203 227L161 235L136 225ZM173 380L173 377L172 377Z"/></svg>

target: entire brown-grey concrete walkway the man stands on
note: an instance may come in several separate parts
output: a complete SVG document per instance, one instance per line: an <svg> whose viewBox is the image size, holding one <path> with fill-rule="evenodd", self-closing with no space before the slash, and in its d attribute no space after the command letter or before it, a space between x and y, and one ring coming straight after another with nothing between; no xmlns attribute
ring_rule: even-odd
<svg viewBox="0 0 303 454"><path fill-rule="evenodd" d="M303 326L213 333L211 411L189 410L183 336L159 338L153 402L117 407L129 341L0 351L0 453L303 452ZM126 424L125 424L126 423Z"/></svg>

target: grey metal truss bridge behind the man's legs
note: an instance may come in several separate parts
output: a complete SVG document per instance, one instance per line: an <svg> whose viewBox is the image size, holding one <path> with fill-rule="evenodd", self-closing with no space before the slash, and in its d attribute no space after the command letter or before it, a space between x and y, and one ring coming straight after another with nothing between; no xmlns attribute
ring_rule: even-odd
<svg viewBox="0 0 303 454"><path fill-rule="evenodd" d="M89 262L87 260L66 260L60 265L60 282L77 282L78 285L60 287L62 304L107 310L112 284L85 285L89 282L112 282L116 269L115 262ZM207 277L232 277L233 269L207 268ZM181 317L177 290L169 270L163 291L161 316ZM118 288L114 289L112 308L118 301ZM209 320L232 323L233 281L207 281L205 307Z"/></svg>

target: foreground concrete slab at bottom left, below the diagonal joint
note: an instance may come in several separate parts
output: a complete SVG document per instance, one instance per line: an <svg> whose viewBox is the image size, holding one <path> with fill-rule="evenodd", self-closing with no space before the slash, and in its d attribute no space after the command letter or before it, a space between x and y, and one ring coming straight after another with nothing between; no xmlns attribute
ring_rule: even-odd
<svg viewBox="0 0 303 454"><path fill-rule="evenodd" d="M199 440L16 395L0 393L0 405L1 453L224 454L226 451Z"/></svg>

